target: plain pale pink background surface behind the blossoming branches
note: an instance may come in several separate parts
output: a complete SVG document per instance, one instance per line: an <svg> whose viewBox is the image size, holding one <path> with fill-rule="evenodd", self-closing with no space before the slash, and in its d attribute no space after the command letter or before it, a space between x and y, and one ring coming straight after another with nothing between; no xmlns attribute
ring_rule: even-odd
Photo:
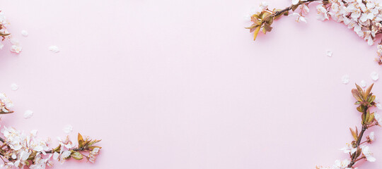
<svg viewBox="0 0 382 169"><path fill-rule="evenodd" d="M316 20L315 8L308 24L283 18L253 42L243 16L258 4L1 1L23 46L19 55L8 44L0 51L0 89L16 105L2 125L54 139L70 124L72 138L103 139L95 164L55 168L313 169L347 158L338 149L360 123L350 90L382 75L376 46ZM374 93L382 98L381 82ZM28 109L35 115L25 120ZM377 161L361 168L382 167L382 132L373 130Z"/></svg>

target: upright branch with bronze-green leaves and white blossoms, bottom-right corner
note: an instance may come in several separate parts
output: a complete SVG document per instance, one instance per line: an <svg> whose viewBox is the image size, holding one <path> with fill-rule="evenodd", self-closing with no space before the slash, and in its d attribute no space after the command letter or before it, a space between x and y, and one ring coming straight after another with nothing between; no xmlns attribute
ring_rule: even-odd
<svg viewBox="0 0 382 169"><path fill-rule="evenodd" d="M358 131L357 127L355 127L355 129L350 128L354 140L340 149L345 154L349 154L350 159L337 160L332 167L317 166L316 169L351 169L354 168L357 161L376 161L376 158L374 158L373 153L370 151L370 147L366 145L374 142L374 132L370 132L370 134L366 136L366 140L362 142L366 130L376 125L381 126L380 124L382 123L381 115L370 112L370 108L376 106L376 96L371 93L373 84L366 90L361 89L357 84L356 86L357 89L352 89L352 94L354 98L357 99L355 104L359 105L357 111L361 113L361 131Z"/></svg>

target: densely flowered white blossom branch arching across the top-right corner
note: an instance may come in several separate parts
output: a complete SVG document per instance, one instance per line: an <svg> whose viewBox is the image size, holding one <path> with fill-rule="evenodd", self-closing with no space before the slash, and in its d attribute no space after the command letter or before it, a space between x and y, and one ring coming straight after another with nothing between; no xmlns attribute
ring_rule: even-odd
<svg viewBox="0 0 382 169"><path fill-rule="evenodd" d="M319 20L332 20L347 25L349 29L363 38L369 45L376 41L376 35L382 33L382 6L375 0L291 0L291 6L284 9L268 8L266 2L260 4L260 12L251 16L253 25L245 27L254 32L254 39L262 30L265 34L272 30L272 23L283 15L296 16L297 22L306 23L305 16L310 11L309 5L317 1ZM378 57L375 61L382 65L382 41L377 46Z"/></svg>

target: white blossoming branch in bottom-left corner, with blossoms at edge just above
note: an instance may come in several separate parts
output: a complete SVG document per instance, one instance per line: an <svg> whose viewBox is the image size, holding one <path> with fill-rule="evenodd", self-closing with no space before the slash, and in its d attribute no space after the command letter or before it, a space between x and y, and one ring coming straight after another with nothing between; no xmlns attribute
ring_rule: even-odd
<svg viewBox="0 0 382 169"><path fill-rule="evenodd" d="M5 94L0 93L0 114L13 113L10 109L13 104ZM95 144L99 139L91 139L78 134L77 143L71 141L69 136L58 138L59 145L50 148L50 139L37 138L37 130L24 133L13 127L4 127L0 136L0 158L3 164L0 168L45 169L53 165L52 159L64 163L69 158L82 160L86 158L94 163L102 147Z"/></svg>

